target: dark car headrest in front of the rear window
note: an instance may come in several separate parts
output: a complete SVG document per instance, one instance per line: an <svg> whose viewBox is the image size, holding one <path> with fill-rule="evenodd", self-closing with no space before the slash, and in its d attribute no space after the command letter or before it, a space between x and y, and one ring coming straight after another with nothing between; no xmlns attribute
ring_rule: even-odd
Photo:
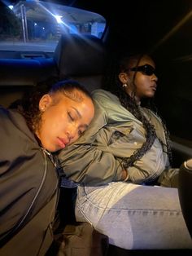
<svg viewBox="0 0 192 256"><path fill-rule="evenodd" d="M105 47L91 35L64 34L55 49L59 77L89 76L103 73Z"/></svg>

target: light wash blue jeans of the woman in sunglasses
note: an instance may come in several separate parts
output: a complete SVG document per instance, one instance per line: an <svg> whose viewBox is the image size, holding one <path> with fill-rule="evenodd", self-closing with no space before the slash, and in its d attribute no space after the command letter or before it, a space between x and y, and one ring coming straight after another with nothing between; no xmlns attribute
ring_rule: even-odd
<svg viewBox="0 0 192 256"><path fill-rule="evenodd" d="M192 249L177 188L115 182L77 188L76 220L124 249ZM192 218L192 216L191 216Z"/></svg>

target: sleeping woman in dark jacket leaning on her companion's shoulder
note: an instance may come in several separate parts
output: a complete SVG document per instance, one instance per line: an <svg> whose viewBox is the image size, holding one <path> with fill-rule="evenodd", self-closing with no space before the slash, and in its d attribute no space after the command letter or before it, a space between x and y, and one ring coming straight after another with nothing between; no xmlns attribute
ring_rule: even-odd
<svg viewBox="0 0 192 256"><path fill-rule="evenodd" d="M46 254L59 196L55 152L94 117L93 101L77 82L46 87L24 95L15 109L0 107L1 255Z"/></svg>

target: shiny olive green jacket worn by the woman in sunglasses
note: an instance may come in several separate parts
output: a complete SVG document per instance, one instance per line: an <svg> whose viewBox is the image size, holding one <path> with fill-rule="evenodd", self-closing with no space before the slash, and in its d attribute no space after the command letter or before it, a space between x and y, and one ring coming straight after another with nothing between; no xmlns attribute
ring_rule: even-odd
<svg viewBox="0 0 192 256"><path fill-rule="evenodd" d="M121 161L130 157L146 141L142 122L121 104L116 95L105 90L94 90L95 116L88 130L70 147L59 153L63 171L77 183L100 185L121 180ZM166 144L159 117L141 108L155 126L156 135ZM168 166L167 153L159 139L150 150L127 171L129 181L143 183L159 177Z"/></svg>

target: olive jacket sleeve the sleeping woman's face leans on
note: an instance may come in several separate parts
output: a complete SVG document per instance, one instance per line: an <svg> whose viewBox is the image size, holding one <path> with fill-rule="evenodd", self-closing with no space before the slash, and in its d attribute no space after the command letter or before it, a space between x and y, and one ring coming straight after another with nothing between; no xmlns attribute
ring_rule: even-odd
<svg viewBox="0 0 192 256"><path fill-rule="evenodd" d="M97 101L94 104L95 117L85 135L59 152L59 161L69 179L99 185L120 180L122 168L111 152L97 146L98 130L107 124L108 113Z"/></svg>

